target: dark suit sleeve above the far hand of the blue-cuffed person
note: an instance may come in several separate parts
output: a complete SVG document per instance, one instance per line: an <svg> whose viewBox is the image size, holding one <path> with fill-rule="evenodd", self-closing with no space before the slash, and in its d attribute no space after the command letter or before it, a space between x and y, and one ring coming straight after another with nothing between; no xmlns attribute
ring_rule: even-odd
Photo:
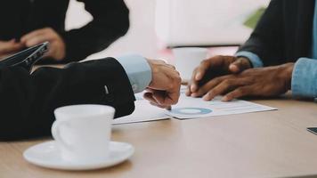
<svg viewBox="0 0 317 178"><path fill-rule="evenodd" d="M283 58L283 13L281 0L272 0L248 41L239 52L256 53L264 66L277 65Z"/></svg>

